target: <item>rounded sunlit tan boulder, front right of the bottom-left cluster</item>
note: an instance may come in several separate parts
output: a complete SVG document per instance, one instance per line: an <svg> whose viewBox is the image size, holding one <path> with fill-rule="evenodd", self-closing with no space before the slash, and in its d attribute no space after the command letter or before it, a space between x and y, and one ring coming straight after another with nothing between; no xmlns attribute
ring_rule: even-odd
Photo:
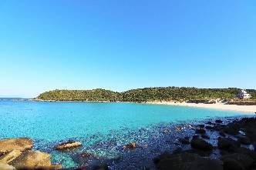
<svg viewBox="0 0 256 170"><path fill-rule="evenodd" d="M50 168L50 155L39 151L23 152L9 163L15 168Z"/></svg>

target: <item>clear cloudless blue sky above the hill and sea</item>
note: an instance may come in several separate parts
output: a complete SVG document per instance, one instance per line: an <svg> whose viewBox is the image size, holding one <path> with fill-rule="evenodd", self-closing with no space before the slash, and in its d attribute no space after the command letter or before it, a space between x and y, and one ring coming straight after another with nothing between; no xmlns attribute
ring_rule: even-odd
<svg viewBox="0 0 256 170"><path fill-rule="evenodd" d="M255 88L256 1L0 0L0 96Z"/></svg>

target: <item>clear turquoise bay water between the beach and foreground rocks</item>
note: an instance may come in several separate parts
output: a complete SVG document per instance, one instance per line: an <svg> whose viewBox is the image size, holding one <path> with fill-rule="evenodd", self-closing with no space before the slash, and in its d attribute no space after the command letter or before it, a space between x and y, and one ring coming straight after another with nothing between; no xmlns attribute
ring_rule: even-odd
<svg viewBox="0 0 256 170"><path fill-rule="evenodd" d="M99 102L0 102L0 138L29 137L35 148L50 152L52 162L78 165L75 152L115 157L127 142L147 145L159 125L182 124L244 113L170 105ZM157 130L156 130L157 129ZM56 142L76 139L83 148L56 152ZM157 138L156 138L157 140Z"/></svg>

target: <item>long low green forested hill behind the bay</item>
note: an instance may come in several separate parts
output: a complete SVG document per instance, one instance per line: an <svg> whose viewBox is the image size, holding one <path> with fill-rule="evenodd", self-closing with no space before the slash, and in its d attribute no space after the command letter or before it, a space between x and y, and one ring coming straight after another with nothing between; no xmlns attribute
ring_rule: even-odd
<svg viewBox="0 0 256 170"><path fill-rule="evenodd" d="M53 90L44 92L35 99L53 101L121 101L153 102L171 100L194 100L214 98L235 98L239 88L138 88L126 92L113 92L105 89L93 90ZM248 89L256 99L256 90Z"/></svg>

